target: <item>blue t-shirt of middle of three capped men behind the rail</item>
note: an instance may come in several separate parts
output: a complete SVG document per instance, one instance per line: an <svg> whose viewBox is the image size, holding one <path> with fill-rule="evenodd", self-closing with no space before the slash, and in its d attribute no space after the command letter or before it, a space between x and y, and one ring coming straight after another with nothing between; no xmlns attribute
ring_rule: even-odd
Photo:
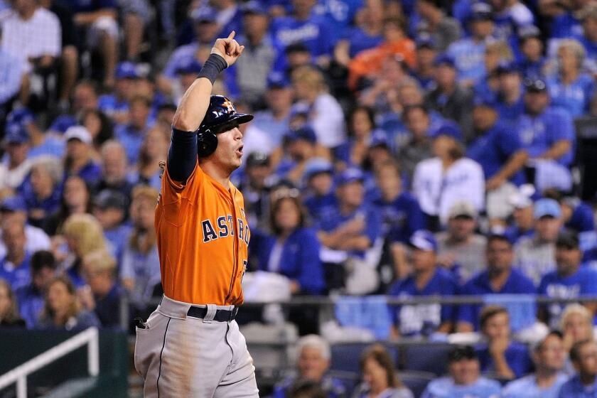
<svg viewBox="0 0 597 398"><path fill-rule="evenodd" d="M491 287L488 271L483 271L473 276L461 288L460 294L463 296L482 296L483 294L534 294L537 292L533 282L517 269L510 271L510 276L500 291L495 291ZM480 304L463 305L458 309L458 321L467 322L473 325L475 330L479 330L479 313L482 306Z"/></svg>

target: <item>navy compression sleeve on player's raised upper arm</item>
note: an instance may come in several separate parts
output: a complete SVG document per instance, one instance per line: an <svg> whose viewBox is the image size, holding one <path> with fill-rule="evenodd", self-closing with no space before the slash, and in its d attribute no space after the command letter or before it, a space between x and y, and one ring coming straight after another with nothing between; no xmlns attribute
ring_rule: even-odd
<svg viewBox="0 0 597 398"><path fill-rule="evenodd" d="M168 174L174 181L187 181L197 163L197 133L172 129L168 149Z"/></svg>

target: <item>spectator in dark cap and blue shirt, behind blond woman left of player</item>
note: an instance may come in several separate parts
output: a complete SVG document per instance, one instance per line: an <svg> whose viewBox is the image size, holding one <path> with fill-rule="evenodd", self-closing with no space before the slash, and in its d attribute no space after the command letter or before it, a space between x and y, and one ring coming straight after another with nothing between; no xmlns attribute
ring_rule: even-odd
<svg viewBox="0 0 597 398"><path fill-rule="evenodd" d="M117 190L100 191L93 201L93 216L99 221L107 240L109 251L119 266L131 227L124 223L127 218L128 202L126 196Z"/></svg>

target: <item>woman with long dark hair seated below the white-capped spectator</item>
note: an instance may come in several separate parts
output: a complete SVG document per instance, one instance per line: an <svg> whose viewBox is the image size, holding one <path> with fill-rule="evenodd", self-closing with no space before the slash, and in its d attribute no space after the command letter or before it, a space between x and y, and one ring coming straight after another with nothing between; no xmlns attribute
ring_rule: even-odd
<svg viewBox="0 0 597 398"><path fill-rule="evenodd" d="M50 236L60 234L68 217L73 214L90 212L91 192L89 185L79 176L70 176L66 178L60 195L60 208L45 220L43 230Z"/></svg>

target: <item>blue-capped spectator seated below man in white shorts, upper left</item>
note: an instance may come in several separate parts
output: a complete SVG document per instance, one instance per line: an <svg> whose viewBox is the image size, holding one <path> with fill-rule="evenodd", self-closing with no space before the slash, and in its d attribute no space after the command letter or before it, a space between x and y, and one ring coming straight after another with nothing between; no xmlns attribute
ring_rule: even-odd
<svg viewBox="0 0 597 398"><path fill-rule="evenodd" d="M136 68L130 61L116 65L114 93L100 95L97 99L97 108L116 123L126 123L129 119L129 101L135 92L135 82L140 77Z"/></svg>

